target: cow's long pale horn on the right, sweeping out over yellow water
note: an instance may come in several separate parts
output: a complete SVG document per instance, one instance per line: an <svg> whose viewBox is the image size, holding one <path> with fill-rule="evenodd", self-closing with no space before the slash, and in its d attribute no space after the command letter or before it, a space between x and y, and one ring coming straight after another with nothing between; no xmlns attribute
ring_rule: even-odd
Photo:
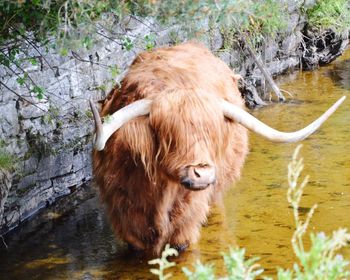
<svg viewBox="0 0 350 280"><path fill-rule="evenodd" d="M232 119L246 128L254 131L255 133L273 141L273 142L297 142L305 139L312 133L314 133L327 118L334 113L335 110L343 103L346 96L341 97L337 102L333 104L322 116L317 120L309 124L307 127L295 131L295 132L280 132L275 130L263 122L259 121L243 109L236 105L233 105L225 100L222 100L222 109L224 115Z"/></svg>

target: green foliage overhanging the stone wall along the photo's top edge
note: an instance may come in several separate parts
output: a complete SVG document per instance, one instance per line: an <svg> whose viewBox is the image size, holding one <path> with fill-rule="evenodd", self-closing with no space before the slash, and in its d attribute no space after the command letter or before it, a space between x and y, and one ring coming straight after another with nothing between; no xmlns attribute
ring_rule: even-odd
<svg viewBox="0 0 350 280"><path fill-rule="evenodd" d="M339 1L339 0L338 0ZM17 41L31 31L43 45L54 36L55 47L67 55L69 48L91 48L96 33L95 23L102 14L109 14L110 21L120 20L126 14L153 16L164 24L180 24L195 34L201 22L210 19L219 25L232 25L251 36L275 34L283 30L288 16L280 0L202 0L202 1L117 1L117 0L71 0L71 1L3 1L0 3L2 25L0 45L7 40ZM145 47L154 47L154 38L145 37ZM126 50L132 49L129 38L122 42Z"/></svg>

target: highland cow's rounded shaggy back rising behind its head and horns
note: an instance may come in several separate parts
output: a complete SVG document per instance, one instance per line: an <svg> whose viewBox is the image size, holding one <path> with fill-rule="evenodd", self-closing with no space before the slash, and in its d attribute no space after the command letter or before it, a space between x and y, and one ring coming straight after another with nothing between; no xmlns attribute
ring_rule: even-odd
<svg viewBox="0 0 350 280"><path fill-rule="evenodd" d="M201 91L243 106L237 80L229 67L207 48L197 43L158 48L140 53L129 72L106 99L101 115L142 98L177 90Z"/></svg>

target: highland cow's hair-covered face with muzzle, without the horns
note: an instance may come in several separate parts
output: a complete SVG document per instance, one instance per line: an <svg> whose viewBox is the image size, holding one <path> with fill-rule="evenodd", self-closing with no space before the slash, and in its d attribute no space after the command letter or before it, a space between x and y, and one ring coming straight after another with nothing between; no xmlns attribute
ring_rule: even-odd
<svg viewBox="0 0 350 280"><path fill-rule="evenodd" d="M225 149L225 118L215 95L187 90L156 97L149 123L156 136L156 160L168 177L190 190L216 182Z"/></svg>

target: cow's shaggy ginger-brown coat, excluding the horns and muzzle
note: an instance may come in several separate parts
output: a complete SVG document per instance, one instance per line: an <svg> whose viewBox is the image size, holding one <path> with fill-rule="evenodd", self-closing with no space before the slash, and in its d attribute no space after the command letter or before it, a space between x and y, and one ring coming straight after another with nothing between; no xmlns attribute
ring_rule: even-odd
<svg viewBox="0 0 350 280"><path fill-rule="evenodd" d="M159 254L166 243L199 238L210 203L240 176L247 131L225 119L218 97L243 106L236 76L206 48L187 43L141 53L102 105L101 116L135 100L153 100L149 116L129 121L94 151L96 182L118 237ZM215 165L202 191L180 184L179 170Z"/></svg>

